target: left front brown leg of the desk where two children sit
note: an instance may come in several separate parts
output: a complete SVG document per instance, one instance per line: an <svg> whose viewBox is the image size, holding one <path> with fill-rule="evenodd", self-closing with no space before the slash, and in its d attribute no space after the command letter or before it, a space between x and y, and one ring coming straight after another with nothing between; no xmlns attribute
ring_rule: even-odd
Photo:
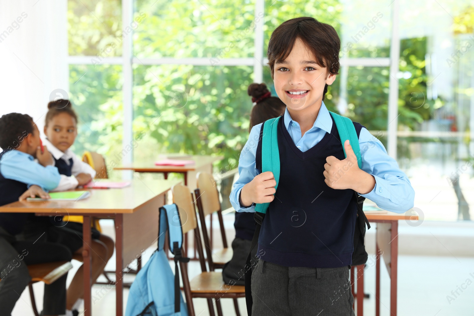
<svg viewBox="0 0 474 316"><path fill-rule="evenodd" d="M82 222L82 259L84 266L84 315L91 316L91 286L92 286L92 269L91 269L91 217L84 216Z"/></svg>

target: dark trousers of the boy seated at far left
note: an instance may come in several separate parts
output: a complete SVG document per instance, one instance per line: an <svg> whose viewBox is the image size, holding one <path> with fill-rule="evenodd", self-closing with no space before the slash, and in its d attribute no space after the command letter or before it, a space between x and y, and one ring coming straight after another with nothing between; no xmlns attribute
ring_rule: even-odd
<svg viewBox="0 0 474 316"><path fill-rule="evenodd" d="M62 244L41 241L16 241L0 228L0 316L10 316L21 293L31 281L27 265L54 261L71 261L71 251ZM67 274L47 285L43 298L43 315L66 312Z"/></svg>

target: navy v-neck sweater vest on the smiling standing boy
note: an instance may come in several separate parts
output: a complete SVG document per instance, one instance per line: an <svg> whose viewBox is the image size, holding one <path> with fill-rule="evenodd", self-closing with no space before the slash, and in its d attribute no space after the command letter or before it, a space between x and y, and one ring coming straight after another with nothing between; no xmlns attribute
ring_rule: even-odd
<svg viewBox="0 0 474 316"><path fill-rule="evenodd" d="M257 253L264 261L313 268L336 268L352 263L357 216L355 194L350 189L329 188L323 175L328 156L345 159L332 120L331 133L326 133L306 152L294 144L283 117L279 120L280 180L258 239ZM363 126L359 123L354 126L358 137ZM261 142L260 137L255 157L260 171Z"/></svg>

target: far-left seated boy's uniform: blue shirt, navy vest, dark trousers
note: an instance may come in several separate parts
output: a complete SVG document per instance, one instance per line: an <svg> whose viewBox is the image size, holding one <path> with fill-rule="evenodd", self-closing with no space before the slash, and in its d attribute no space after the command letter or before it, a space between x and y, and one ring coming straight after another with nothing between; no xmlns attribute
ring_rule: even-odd
<svg viewBox="0 0 474 316"><path fill-rule="evenodd" d="M0 206L18 201L31 185L51 190L59 178L55 167L43 167L30 154L5 150L0 153ZM10 315L31 280L28 264L72 259L72 253L63 245L18 240L16 235L24 230L27 219L34 217L30 213L0 213L0 316ZM52 284L45 284L44 314L65 313L66 278L67 274Z"/></svg>

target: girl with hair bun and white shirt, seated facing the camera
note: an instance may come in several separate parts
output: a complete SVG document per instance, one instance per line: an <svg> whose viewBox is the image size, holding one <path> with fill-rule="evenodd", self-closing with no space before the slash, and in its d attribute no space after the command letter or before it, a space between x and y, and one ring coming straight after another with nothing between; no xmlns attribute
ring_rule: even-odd
<svg viewBox="0 0 474 316"><path fill-rule="evenodd" d="M78 117L71 101L58 99L48 103L48 112L44 132L48 151L53 155L53 164L61 175L59 184L53 191L75 189L92 181L95 170L87 163L82 162L70 149L77 136ZM55 217L56 220L56 217ZM113 240L102 235L96 228L91 227L92 243L92 282L99 277L106 263L114 252ZM27 223L25 237L28 239L56 242L67 246L74 254L82 254L82 223L62 221L51 223L49 220L36 220ZM44 232L46 234L42 235ZM74 275L71 285L67 289L66 310L70 315L77 315L77 308L82 302L83 267Z"/></svg>

